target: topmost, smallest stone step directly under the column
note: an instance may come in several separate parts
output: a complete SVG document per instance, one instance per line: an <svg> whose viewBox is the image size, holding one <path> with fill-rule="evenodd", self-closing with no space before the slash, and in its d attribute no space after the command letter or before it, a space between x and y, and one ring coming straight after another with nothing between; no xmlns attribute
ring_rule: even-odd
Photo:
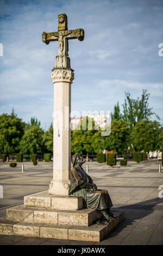
<svg viewBox="0 0 163 256"><path fill-rule="evenodd" d="M26 197L24 197L24 207L70 211L80 210L83 208L83 198L49 195L48 190L46 190L26 195Z"/></svg>

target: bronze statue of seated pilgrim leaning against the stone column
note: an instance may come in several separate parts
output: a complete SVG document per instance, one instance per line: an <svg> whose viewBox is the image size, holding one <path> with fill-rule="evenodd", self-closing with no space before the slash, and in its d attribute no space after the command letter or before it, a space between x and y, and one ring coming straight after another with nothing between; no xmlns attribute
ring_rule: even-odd
<svg viewBox="0 0 163 256"><path fill-rule="evenodd" d="M113 221L116 216L110 212L112 202L108 191L105 189L97 189L92 178L82 168L85 163L83 157L78 153L73 154L71 158L73 167L71 169L70 193L73 197L83 198L83 207L87 209L96 209L102 212L103 219Z"/></svg>

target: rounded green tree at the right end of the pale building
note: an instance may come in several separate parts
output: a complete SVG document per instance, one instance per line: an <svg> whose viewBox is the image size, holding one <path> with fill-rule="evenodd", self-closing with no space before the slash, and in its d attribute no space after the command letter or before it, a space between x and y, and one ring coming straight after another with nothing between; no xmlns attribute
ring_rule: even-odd
<svg viewBox="0 0 163 256"><path fill-rule="evenodd" d="M129 128L128 123L122 119L113 120L111 123L111 133L106 136L105 148L116 151L122 154L129 145Z"/></svg>

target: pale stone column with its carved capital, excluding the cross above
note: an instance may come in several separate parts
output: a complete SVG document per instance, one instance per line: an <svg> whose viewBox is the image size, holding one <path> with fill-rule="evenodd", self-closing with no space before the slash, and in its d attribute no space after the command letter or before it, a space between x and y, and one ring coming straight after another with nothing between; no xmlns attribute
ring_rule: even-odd
<svg viewBox="0 0 163 256"><path fill-rule="evenodd" d="M49 194L69 195L71 170L71 84L73 69L54 68L53 112L53 180L49 184Z"/></svg>

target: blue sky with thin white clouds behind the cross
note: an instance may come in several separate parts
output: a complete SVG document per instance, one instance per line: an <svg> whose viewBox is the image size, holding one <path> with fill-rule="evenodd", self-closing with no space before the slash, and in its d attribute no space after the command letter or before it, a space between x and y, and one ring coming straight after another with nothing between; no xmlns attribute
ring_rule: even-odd
<svg viewBox="0 0 163 256"><path fill-rule="evenodd" d="M57 31L58 14L66 13L68 29L85 31L84 41L69 40L72 110L113 111L118 101L122 111L125 92L137 98L147 89L163 118L162 0L0 0L0 9L0 114L14 108L23 121L35 116L49 128L58 43L46 45L41 35Z"/></svg>

